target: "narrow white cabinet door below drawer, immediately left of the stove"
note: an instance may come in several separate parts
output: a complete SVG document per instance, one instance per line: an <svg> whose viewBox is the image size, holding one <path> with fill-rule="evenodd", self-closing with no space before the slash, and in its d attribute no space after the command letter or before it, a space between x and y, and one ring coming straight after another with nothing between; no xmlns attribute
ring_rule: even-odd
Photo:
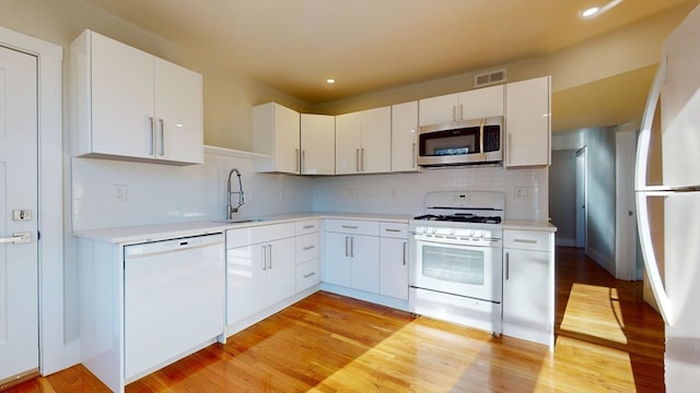
<svg viewBox="0 0 700 393"><path fill-rule="evenodd" d="M408 299L408 240L382 238L380 294Z"/></svg>

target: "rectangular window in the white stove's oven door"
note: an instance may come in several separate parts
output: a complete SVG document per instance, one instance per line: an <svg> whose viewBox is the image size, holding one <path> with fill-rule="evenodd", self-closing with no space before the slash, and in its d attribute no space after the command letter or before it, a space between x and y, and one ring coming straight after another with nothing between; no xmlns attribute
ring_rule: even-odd
<svg viewBox="0 0 700 393"><path fill-rule="evenodd" d="M483 252L446 247L422 247L423 276L435 279L483 285Z"/></svg>

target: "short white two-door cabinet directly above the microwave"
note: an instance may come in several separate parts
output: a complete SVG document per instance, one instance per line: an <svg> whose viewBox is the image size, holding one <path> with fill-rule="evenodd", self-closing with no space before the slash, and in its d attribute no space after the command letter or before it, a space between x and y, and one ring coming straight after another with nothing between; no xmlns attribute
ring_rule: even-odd
<svg viewBox="0 0 700 393"><path fill-rule="evenodd" d="M419 108L419 126L503 116L503 85L424 98Z"/></svg>

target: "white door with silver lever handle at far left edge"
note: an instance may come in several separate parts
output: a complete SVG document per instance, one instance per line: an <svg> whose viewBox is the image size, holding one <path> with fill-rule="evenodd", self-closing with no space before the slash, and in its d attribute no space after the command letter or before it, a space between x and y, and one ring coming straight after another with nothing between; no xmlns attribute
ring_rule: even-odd
<svg viewBox="0 0 700 393"><path fill-rule="evenodd" d="M0 385L38 371L36 63L0 47Z"/></svg>

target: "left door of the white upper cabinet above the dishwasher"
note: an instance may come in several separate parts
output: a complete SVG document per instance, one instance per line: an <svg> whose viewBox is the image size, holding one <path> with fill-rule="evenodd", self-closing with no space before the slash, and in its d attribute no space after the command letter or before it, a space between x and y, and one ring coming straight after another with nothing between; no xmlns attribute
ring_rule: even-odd
<svg viewBox="0 0 700 393"><path fill-rule="evenodd" d="M86 132L81 138L92 138L92 143L89 151L80 153L153 157L153 56L100 34L84 38L85 56L92 63L78 76L92 84L86 92L92 119L83 124Z"/></svg>

